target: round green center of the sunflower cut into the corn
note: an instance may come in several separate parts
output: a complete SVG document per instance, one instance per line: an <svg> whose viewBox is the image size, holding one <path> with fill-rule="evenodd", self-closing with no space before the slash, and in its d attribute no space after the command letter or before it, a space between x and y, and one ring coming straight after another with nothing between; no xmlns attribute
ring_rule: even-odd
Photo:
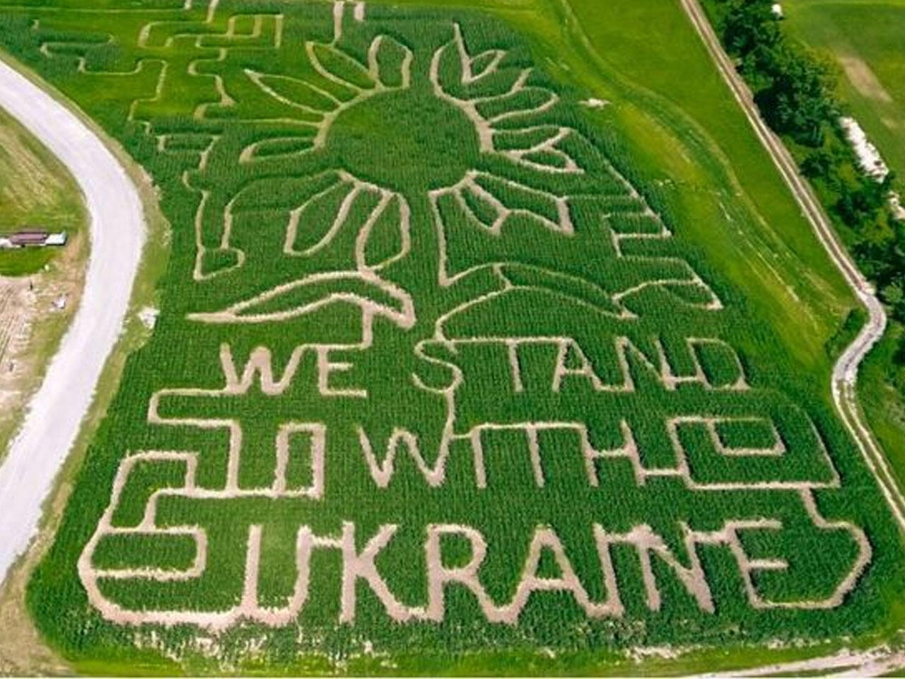
<svg viewBox="0 0 905 679"><path fill-rule="evenodd" d="M409 195L452 186L481 154L472 121L427 88L377 94L342 111L327 148L338 167Z"/></svg>

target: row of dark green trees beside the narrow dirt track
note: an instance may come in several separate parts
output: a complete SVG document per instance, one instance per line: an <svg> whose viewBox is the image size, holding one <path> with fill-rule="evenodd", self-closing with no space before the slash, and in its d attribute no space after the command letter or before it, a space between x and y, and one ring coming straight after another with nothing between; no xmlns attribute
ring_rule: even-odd
<svg viewBox="0 0 905 679"><path fill-rule="evenodd" d="M789 38L773 0L707 0L720 40L767 124L811 180L862 272L894 320L905 322L905 223L889 205L894 173L882 181L859 165L840 118L837 69ZM905 342L897 362L905 364Z"/></svg>

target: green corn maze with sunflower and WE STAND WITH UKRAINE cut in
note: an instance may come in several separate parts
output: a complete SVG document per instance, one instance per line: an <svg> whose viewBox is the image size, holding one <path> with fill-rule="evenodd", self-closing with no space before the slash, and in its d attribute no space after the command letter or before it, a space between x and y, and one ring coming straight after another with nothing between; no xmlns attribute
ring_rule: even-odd
<svg viewBox="0 0 905 679"><path fill-rule="evenodd" d="M66 653L568 652L882 612L898 541L822 387L504 24L0 5L0 44L173 229L30 588Z"/></svg>

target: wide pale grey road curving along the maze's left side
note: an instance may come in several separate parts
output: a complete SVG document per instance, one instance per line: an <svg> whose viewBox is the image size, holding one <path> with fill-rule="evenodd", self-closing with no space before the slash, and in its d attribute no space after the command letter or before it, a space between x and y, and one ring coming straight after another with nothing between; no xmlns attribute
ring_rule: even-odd
<svg viewBox="0 0 905 679"><path fill-rule="evenodd" d="M0 107L75 177L90 214L91 244L79 310L0 466L2 582L37 530L42 503L119 337L146 229L138 191L110 150L70 110L2 61Z"/></svg>

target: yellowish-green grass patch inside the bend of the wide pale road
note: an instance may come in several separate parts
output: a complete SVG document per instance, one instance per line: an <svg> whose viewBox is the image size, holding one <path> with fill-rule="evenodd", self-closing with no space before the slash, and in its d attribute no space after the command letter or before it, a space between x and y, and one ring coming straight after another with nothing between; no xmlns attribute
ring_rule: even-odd
<svg viewBox="0 0 905 679"><path fill-rule="evenodd" d="M81 194L60 163L0 110L0 234L42 225L78 237L84 226ZM40 271L52 249L0 250L0 276Z"/></svg>

